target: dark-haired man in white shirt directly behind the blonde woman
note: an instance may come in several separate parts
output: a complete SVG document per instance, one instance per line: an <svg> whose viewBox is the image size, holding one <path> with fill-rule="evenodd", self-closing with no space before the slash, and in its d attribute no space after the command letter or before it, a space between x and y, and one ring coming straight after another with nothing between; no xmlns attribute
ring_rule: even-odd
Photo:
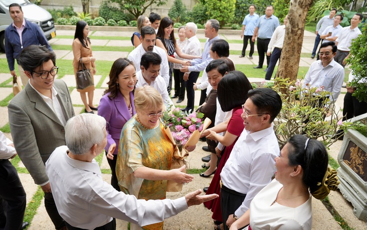
<svg viewBox="0 0 367 230"><path fill-rule="evenodd" d="M161 61L162 59L156 53L147 52L143 54L140 61L140 71L136 73L136 87L142 87L144 85L152 86L162 95L166 109L171 106L174 108L173 102L168 95L165 82L159 75Z"/></svg>

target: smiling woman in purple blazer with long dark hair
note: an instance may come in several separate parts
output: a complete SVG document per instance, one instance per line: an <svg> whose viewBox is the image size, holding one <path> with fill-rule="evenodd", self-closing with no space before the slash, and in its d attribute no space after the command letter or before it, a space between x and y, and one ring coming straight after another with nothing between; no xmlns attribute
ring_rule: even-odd
<svg viewBox="0 0 367 230"><path fill-rule="evenodd" d="M136 113L134 107L134 89L136 74L134 63L127 58L117 59L111 67L110 81L107 83L101 98L98 115L107 122L107 146L105 148L107 161L111 167L111 185L118 191L116 177L116 159L119 150L121 130L125 123Z"/></svg>

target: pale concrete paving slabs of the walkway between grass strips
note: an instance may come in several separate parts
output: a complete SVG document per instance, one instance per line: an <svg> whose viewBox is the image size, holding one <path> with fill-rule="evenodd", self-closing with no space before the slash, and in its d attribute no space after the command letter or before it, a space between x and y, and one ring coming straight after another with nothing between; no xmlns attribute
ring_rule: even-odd
<svg viewBox="0 0 367 230"><path fill-rule="evenodd" d="M92 28L93 29L93 28ZM91 31L90 33L93 33ZM94 36L109 36L109 37L129 37L131 36L132 32L117 32L117 31L96 31L93 33ZM73 30L57 30L57 36L61 35L68 35L73 36ZM56 36L55 39L50 41L51 45L70 45L70 51L65 50L55 50L57 54L58 60L72 60L73 55L71 51L71 43L72 39L59 39ZM221 35L223 38L228 40L241 40L239 34L229 34L229 35ZM199 33L199 38L205 38L204 34ZM304 45L302 48L303 53L311 53L313 47L315 35L310 32L305 32L304 38ZM109 40L109 39L101 39L92 41L93 45L98 46L126 46L131 47L130 41L121 41L121 40ZM204 44L203 44L204 47ZM255 47L256 48L256 47ZM237 43L230 43L231 50L241 50L242 44ZM249 46L248 46L249 49ZM94 55L96 56L97 60L106 60L106 61L114 61L119 57L127 57L128 52L102 52L102 51L94 51ZM0 59L5 59L5 54L0 53ZM238 55L231 55L230 57L235 64L246 64L246 65L256 65L257 64L257 56L254 56L253 60L249 60L246 58L238 58ZM311 58L301 58L300 66L309 66L315 59ZM62 67L62 66L60 66ZM99 82L103 77L101 75L95 76L95 82ZM0 83L3 83L7 80L11 79L11 75L8 69L0 70ZM74 75L64 75L62 78L66 82L69 87L75 86L75 79ZM251 82L261 82L263 78L250 78ZM102 96L103 91L107 87L108 77L102 82L102 86L96 88L94 104L98 104L100 98ZM12 83L10 82L7 86L11 86ZM345 92L345 89L342 88L342 91ZM11 87L2 87L0 88L0 100L3 100L7 96L12 93ZM84 109L82 107L82 102L80 99L79 93L76 89L73 89L71 92L71 97L74 106L75 113L81 113ZM342 107L344 94L341 94L336 102L337 106ZM200 99L200 91L196 91L195 97L195 104L199 104ZM176 99L173 100L174 103ZM186 99L180 103L180 105L186 105ZM175 103L176 104L176 103ZM0 107L0 127L4 127L8 123L8 109L7 107ZM6 134L7 137L11 138L10 134ZM331 156L336 159L336 156L340 150L341 141L337 141L333 146L330 148ZM188 157L188 161L190 163L190 168L197 168L201 169L201 165L203 162L201 158L206 156L207 153L202 150L202 146L204 146L203 142L199 142L197 145L196 150L190 154ZM24 167L22 163L19 165L20 167ZM109 165L107 163L106 157L103 157L101 168L109 169ZM19 174L23 186L27 192L27 203L32 202L31 199L37 190L37 186L34 184L33 179L29 174L20 173ZM194 191L198 188L203 188L210 184L211 178L203 178L200 177L198 174L194 174L194 181L189 183L188 185L184 186L184 189L181 192L177 193L168 193L167 198L176 198L185 195L190 191ZM110 175L104 174L104 179L109 182ZM337 211L342 215L344 220L347 221L349 226L353 227L354 229L367 229L367 224L364 221L358 220L353 215L353 207L342 198L339 192L332 192L329 195L329 199ZM313 199L313 227L312 229L340 229L339 224L334 220L332 215L329 211L325 208L325 206L321 203L321 201ZM127 222L118 220L118 228L117 229L127 229ZM38 229L53 229L53 224L48 217L46 210L44 208L44 203L42 201L41 205L37 209L37 214L34 216L32 223L28 227L31 230L38 230ZM211 211L206 209L203 205L190 207L189 210L186 210L177 216L171 217L165 220L164 229L213 229L213 222L211 219Z"/></svg>

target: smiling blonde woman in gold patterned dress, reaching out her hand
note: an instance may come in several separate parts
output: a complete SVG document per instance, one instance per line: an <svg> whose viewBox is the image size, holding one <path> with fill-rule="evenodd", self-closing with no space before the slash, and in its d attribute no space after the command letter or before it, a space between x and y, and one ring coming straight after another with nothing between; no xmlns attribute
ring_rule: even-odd
<svg viewBox="0 0 367 230"><path fill-rule="evenodd" d="M153 87L143 86L135 90L134 97L136 114L121 132L116 164L119 186L138 199L164 199L168 179L187 183L194 177L182 172L186 166L170 170L174 146L159 120L164 105L162 96ZM131 224L130 229L163 229L163 222L143 227Z"/></svg>

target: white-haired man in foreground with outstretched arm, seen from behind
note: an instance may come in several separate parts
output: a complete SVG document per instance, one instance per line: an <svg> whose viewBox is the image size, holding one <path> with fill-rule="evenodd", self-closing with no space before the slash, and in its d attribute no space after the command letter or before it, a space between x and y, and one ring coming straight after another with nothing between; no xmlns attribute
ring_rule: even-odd
<svg viewBox="0 0 367 230"><path fill-rule="evenodd" d="M95 158L107 144L106 120L82 113L65 126L66 146L55 149L46 162L57 209L69 230L116 229L123 219L140 226L162 221L189 206L218 197L199 196L201 190L175 200L138 200L105 182Z"/></svg>

